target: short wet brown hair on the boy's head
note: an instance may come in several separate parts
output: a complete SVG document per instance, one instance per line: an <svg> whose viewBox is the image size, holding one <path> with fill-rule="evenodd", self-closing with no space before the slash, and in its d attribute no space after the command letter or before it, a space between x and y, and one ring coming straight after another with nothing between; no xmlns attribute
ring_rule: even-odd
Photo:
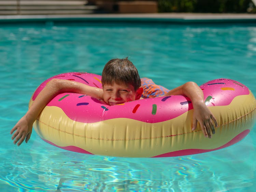
<svg viewBox="0 0 256 192"><path fill-rule="evenodd" d="M141 86L138 70L128 60L128 57L125 59L112 59L106 63L102 71L102 86L112 85L113 81L117 84L131 84L134 90L137 90Z"/></svg>

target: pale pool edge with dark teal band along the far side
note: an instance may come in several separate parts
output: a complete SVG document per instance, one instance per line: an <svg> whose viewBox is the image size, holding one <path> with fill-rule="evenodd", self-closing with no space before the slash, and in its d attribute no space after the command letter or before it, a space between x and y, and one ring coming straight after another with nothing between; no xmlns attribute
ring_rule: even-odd
<svg viewBox="0 0 256 192"><path fill-rule="evenodd" d="M256 23L256 14L151 13L85 15L0 15L0 23L24 22Z"/></svg>

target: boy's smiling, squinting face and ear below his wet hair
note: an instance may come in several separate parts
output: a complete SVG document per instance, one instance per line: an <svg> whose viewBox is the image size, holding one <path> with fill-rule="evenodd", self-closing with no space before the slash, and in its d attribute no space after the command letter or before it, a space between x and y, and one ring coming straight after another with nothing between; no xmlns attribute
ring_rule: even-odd
<svg viewBox="0 0 256 192"><path fill-rule="evenodd" d="M142 87L135 91L130 84L112 82L103 86L103 99L108 105L118 105L140 99L142 92Z"/></svg>

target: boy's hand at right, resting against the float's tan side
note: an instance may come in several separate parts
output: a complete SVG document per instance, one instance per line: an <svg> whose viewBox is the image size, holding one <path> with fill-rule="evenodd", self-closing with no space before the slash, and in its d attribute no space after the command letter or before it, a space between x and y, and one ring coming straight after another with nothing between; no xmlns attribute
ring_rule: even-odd
<svg viewBox="0 0 256 192"><path fill-rule="evenodd" d="M200 123L202 132L205 137L211 138L211 132L212 134L215 134L214 125L215 127L217 127L218 123L208 107L205 105L205 103L199 103L194 105L192 131L196 129L197 122Z"/></svg>

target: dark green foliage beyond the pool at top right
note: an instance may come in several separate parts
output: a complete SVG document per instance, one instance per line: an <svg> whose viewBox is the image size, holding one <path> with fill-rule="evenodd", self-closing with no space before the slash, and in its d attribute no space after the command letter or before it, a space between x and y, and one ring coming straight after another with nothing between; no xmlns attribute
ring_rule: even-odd
<svg viewBox="0 0 256 192"><path fill-rule="evenodd" d="M158 0L159 12L256 13L252 0Z"/></svg>

